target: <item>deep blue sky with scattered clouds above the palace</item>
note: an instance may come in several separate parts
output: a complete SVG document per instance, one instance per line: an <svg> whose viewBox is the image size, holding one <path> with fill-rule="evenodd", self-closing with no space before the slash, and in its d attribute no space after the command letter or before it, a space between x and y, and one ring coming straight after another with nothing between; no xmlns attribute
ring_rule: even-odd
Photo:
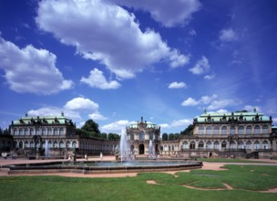
<svg viewBox="0 0 277 201"><path fill-rule="evenodd" d="M59 115L180 132L207 111L277 123L275 0L1 0L0 127Z"/></svg>

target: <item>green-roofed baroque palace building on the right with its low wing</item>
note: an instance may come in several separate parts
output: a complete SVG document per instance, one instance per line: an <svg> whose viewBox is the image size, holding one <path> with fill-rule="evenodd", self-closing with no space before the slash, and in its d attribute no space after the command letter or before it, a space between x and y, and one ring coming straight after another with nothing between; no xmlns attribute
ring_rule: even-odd
<svg viewBox="0 0 277 201"><path fill-rule="evenodd" d="M207 113L193 120L193 134L161 143L164 154L185 157L271 157L276 155L272 117L253 112Z"/></svg>

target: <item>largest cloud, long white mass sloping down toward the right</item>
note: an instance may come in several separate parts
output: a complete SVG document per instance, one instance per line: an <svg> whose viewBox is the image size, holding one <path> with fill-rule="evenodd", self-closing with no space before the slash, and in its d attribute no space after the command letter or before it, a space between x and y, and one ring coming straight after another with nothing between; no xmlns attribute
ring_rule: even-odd
<svg viewBox="0 0 277 201"><path fill-rule="evenodd" d="M189 62L188 56L169 48L159 33L142 32L135 16L112 2L41 1L36 24L62 43L76 47L84 58L106 65L122 79L132 78L160 61L168 61L172 68Z"/></svg>

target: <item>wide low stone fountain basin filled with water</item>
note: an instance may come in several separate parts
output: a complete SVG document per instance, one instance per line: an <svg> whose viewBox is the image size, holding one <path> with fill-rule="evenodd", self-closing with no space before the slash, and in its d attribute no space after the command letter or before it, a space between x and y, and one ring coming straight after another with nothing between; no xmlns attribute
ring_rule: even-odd
<svg viewBox="0 0 277 201"><path fill-rule="evenodd" d="M80 174L112 174L181 171L201 168L197 161L139 161L139 162L49 162L36 164L3 165L8 175L80 173Z"/></svg>

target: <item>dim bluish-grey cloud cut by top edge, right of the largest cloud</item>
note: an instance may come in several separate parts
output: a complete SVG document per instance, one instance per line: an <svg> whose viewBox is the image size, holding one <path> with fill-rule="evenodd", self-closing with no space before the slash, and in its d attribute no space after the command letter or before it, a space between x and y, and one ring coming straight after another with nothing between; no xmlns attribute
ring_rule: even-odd
<svg viewBox="0 0 277 201"><path fill-rule="evenodd" d="M192 14L201 8L199 0L110 0L110 2L149 12L155 21L168 27L187 24Z"/></svg>

